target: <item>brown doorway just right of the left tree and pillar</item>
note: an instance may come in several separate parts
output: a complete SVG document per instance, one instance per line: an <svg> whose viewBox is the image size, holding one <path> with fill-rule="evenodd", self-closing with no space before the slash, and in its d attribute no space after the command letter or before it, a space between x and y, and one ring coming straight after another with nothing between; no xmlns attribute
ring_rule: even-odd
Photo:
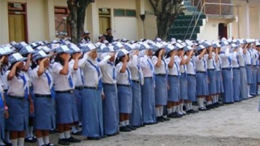
<svg viewBox="0 0 260 146"><path fill-rule="evenodd" d="M106 34L106 29L111 28L111 13L109 8L99 8L100 34Z"/></svg>

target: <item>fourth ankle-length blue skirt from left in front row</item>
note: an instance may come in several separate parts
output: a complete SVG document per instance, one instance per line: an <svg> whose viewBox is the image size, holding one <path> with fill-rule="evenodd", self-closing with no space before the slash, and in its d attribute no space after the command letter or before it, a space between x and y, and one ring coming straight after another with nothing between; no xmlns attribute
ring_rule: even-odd
<svg viewBox="0 0 260 146"><path fill-rule="evenodd" d="M149 124L156 121L155 116L155 84L152 77L145 77L141 86L143 123Z"/></svg>

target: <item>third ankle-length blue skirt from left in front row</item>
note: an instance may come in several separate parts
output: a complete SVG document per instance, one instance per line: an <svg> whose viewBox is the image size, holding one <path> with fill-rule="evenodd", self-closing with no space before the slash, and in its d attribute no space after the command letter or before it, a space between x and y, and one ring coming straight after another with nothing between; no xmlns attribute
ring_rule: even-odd
<svg viewBox="0 0 260 146"><path fill-rule="evenodd" d="M132 112L130 114L129 122L131 126L140 126L143 125L142 93L141 84L136 81L133 81L132 95Z"/></svg>

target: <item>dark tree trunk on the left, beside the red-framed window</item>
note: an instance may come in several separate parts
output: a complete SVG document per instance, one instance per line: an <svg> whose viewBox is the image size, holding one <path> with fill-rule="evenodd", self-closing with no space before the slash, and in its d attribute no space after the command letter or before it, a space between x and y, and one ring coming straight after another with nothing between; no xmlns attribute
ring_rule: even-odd
<svg viewBox="0 0 260 146"><path fill-rule="evenodd" d="M85 9L90 0L67 0L70 11L68 22L71 27L71 41L78 44L81 41L81 34L84 31Z"/></svg>

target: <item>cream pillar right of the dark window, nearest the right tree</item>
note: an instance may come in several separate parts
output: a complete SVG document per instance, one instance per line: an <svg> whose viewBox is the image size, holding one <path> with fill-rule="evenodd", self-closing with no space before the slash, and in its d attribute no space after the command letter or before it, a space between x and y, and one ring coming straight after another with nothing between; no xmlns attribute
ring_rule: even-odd
<svg viewBox="0 0 260 146"><path fill-rule="evenodd" d="M137 18L137 29L138 29L138 34L137 38L146 38L146 33L145 33L145 28L144 28L144 21L141 20L140 15L145 14L145 6L144 6L144 0L136 0L136 18Z"/></svg>

